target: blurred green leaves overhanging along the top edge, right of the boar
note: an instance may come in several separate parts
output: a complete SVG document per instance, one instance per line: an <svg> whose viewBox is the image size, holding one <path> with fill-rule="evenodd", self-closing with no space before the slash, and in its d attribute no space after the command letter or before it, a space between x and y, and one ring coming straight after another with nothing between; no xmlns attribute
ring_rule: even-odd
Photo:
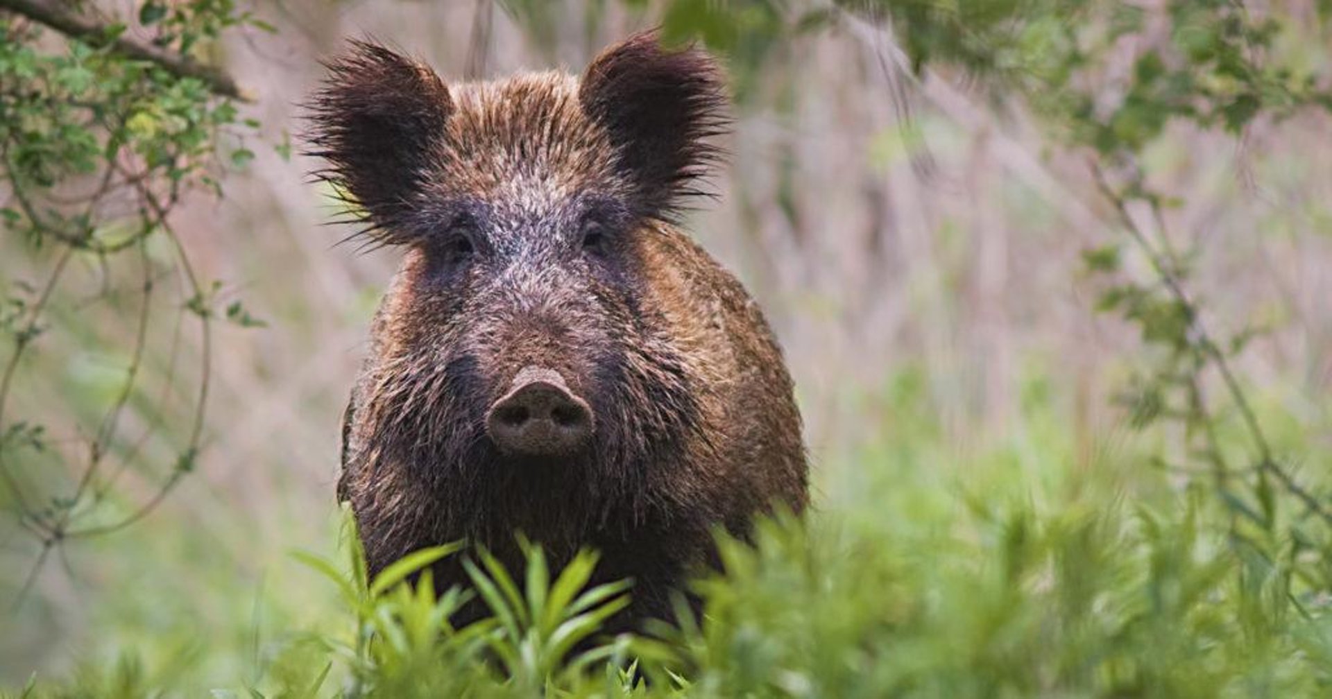
<svg viewBox="0 0 1332 699"><path fill-rule="evenodd" d="M959 69L983 79L996 96L1023 99L1066 142L1115 158L1140 153L1175 120L1239 133L1259 117L1332 109L1325 71L1300 68L1283 53L1292 39L1317 36L1304 36L1308 28L1293 15L1271 8L1231 0L1160 8L1070 0L836 5L846 13L771 0L671 0L662 28L667 41L702 39L747 72L791 35L862 19L886 24L912 72ZM1148 20L1163 21L1168 36L1144 36ZM1127 41L1132 64L1120 75ZM1116 99L1107 103L1107 93Z"/></svg>

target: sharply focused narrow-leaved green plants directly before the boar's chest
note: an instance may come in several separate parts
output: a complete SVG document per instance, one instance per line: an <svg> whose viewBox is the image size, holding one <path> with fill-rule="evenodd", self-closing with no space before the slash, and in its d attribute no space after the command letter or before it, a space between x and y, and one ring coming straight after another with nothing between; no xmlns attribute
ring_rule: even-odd
<svg viewBox="0 0 1332 699"><path fill-rule="evenodd" d="M306 553L293 554L336 584L354 623L350 638L304 638L298 646L317 647L322 659L304 659L313 678L298 674L280 682L278 696L322 695L318 688L337 666L349 679L346 696L440 696L500 692L531 696L555 687L579 686L591 667L621 664L629 638L598 643L602 623L629 603L627 581L589 588L597 555L582 551L550 579L539 546L522 542L527 565L519 587L511 573L490 554L469 554L462 566L472 588L436 596L430 566L460 554L461 545L424 549L365 577L365 558L346 510L345 566ZM465 604L482 603L490 615L461 628L452 619ZM642 642L633 642L642 644ZM643 644L643 647L649 647ZM338 672L341 676L342 672ZM618 674L615 675L618 678ZM633 682L630 676L617 682ZM264 695L249 687L252 695Z"/></svg>

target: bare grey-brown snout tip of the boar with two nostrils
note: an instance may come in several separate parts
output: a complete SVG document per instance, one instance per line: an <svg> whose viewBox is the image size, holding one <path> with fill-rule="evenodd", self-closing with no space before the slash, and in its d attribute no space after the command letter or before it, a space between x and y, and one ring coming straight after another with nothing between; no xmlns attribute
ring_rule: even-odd
<svg viewBox="0 0 1332 699"><path fill-rule="evenodd" d="M501 451L561 457L578 451L593 433L591 409L559 371L526 366L486 414L486 433Z"/></svg>

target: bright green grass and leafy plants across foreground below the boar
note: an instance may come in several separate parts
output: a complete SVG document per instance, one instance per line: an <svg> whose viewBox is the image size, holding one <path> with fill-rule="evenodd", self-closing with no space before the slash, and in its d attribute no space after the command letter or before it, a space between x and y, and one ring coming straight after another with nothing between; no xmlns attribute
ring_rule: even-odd
<svg viewBox="0 0 1332 699"><path fill-rule="evenodd" d="M470 590L437 598L428 574L416 586L408 574L460 555L453 549L421 551L368 581L354 543L344 543L341 554L276 561L262 586L233 578L230 587L172 591L156 579L105 591L99 603L111 607L143 596L139 604L176 610L182 616L157 619L157 628L189 628L192 638L145 634L135 616L101 623L92 646L119 658L39 676L27 696L1332 690L1324 602L1297 611L1281 596L1287 571L1227 546L1220 503L1172 489L1172 474L1151 466L1158 435L1123 433L1088 455L1036 383L1018 429L959 447L918 410L914 383L907 375L890 391L887 409L902 422L883 425L882 443L825 471L821 511L805 523L763 522L753 547L723 541L725 571L693 583L703 614L678 627L601 636L598 622L633 588L585 588L590 553L562 571L547 570L533 545L522 573L481 558ZM140 538L153 537L164 533ZM493 614L453 627L450 612L474 595Z"/></svg>

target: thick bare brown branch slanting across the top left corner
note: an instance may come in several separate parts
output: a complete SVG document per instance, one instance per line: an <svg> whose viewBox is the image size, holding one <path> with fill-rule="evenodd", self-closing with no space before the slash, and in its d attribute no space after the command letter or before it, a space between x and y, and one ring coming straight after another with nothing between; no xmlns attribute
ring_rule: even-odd
<svg viewBox="0 0 1332 699"><path fill-rule="evenodd" d="M8 9L39 24L45 24L71 39L96 40L105 36L107 32L105 25L80 17L61 0L0 0L0 9ZM129 59L155 63L177 77L201 80L209 91L224 97L242 103L254 101L225 71L198 63L189 56L141 44L124 36L112 41L111 49Z"/></svg>

